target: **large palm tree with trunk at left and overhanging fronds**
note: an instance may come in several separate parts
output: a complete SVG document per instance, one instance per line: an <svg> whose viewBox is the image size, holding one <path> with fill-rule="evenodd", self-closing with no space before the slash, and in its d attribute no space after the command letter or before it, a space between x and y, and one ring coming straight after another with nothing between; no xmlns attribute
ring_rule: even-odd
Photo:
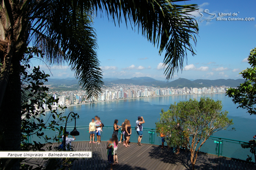
<svg viewBox="0 0 256 170"><path fill-rule="evenodd" d="M67 62L89 98L101 91L93 18L106 14L115 24L138 29L159 54L165 52L166 79L195 54L198 27L187 0L1 0L0 132L4 150L20 147L20 60L27 46L45 53L48 64ZM193 43L191 44L190 41ZM5 163L3 166L7 166Z"/></svg>

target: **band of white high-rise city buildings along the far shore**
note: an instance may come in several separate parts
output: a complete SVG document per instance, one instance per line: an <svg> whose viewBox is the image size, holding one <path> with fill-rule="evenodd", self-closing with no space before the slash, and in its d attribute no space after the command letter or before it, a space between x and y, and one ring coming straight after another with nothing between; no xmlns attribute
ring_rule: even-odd
<svg viewBox="0 0 256 170"><path fill-rule="evenodd" d="M50 86L47 86L50 87ZM218 87L203 87L203 88L159 88L152 86L141 86L133 84L114 84L111 87L106 86L102 89L102 92L98 94L94 101L109 101L125 98L139 98L139 97L156 97L162 95L185 95L185 94L213 94L213 93L225 93L228 86ZM59 98L59 103L53 103L53 106L58 105L77 105L81 103L91 102L86 96L84 90L67 90L67 91L49 91L49 96L54 99ZM44 107L47 108L47 107Z"/></svg>

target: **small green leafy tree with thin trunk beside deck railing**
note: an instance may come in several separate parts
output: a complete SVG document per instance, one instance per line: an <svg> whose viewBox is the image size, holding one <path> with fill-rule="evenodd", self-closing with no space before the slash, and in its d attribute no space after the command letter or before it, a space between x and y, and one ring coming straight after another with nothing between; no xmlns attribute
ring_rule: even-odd
<svg viewBox="0 0 256 170"><path fill-rule="evenodd" d="M198 151L206 140L213 133L226 130L227 127L233 125L232 119L227 118L227 114L226 110L222 111L222 103L219 100L189 99L189 101L171 104L167 112L162 110L156 129L158 133L172 132L172 138L178 136L183 144L185 142L185 147L188 147L191 152L191 164L194 170ZM180 122L184 130L182 133L174 130L177 122ZM172 143L172 141L175 140L168 140L167 143L175 146L177 143Z"/></svg>

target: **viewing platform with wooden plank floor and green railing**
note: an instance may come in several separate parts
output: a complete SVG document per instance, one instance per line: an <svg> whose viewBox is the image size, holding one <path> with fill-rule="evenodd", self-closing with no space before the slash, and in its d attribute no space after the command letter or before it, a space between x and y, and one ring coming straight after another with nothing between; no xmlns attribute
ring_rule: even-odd
<svg viewBox="0 0 256 170"><path fill-rule="evenodd" d="M101 144L89 143L89 127L77 126L80 132L76 136L76 140L72 141L71 145L74 151L91 151L92 158L85 160L76 160L71 169L72 170L108 170L106 141L112 136L113 126L104 126L101 133ZM67 131L72 131L73 126L67 127ZM113 166L114 170L185 170L191 168L190 152L181 149L180 155L175 155L173 149L161 148L161 137L159 137L155 129L143 128L142 146L138 146L138 135L136 130L132 128L132 135L130 138L131 147L124 147L119 144L117 151L118 164ZM49 129L42 130L48 137L61 136L61 131L52 131ZM120 139L120 132L118 132L118 139ZM31 135L28 142L38 141L45 143L43 138L36 135ZM95 141L97 139L95 138ZM60 141L61 142L61 141ZM52 147L58 147L60 143L53 143ZM243 146L243 147L242 147ZM245 147L247 146L247 147ZM248 147L250 146L250 147ZM46 144L44 150L48 150L49 144ZM200 148L199 155L196 160L197 170L256 170L255 158L250 152L251 147L255 147L248 142L225 139L220 137L211 136L207 139L206 143ZM253 162L246 162L248 155L252 156ZM35 159L29 160L29 164L33 164ZM43 160L41 162L43 167L46 166Z"/></svg>

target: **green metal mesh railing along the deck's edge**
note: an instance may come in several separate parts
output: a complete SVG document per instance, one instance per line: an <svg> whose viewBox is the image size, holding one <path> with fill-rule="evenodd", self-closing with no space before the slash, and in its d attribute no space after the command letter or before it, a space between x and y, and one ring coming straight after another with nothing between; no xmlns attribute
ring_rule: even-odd
<svg viewBox="0 0 256 170"><path fill-rule="evenodd" d="M71 132L73 129L74 129L74 126L67 127L67 131L69 132ZM80 132L80 135L76 136L76 141L90 140L89 126L77 126L76 129ZM47 135L48 137L62 135L62 132L53 131L50 129L43 129L42 132L44 132L44 136ZM132 127L131 132L132 132L132 135L131 135L130 141L137 143L138 134L136 132L135 127ZM112 134L113 134L113 126L104 126L101 132L101 141L109 140ZM121 137L121 131L119 131L118 133L118 139L120 139L120 137ZM95 139L97 139L96 135L95 135ZM29 136L28 142L33 143L33 141L45 143L44 138L42 137L39 138L37 137L37 135ZM161 145L162 140L161 140L161 137L159 137L155 132L155 129L143 128L142 143ZM167 145L166 142L164 144ZM246 160L246 158L248 158L248 155L249 155L249 156L252 156L252 161L255 162L255 157L250 152L251 148L242 148L241 146L241 145L249 146L249 144L250 143L246 141L239 141L239 140L232 140L232 139L225 139L225 138L211 136L200 148L200 152L205 152L208 154L214 154L218 156L225 156L228 158L241 159L241 160ZM197 147L199 147L199 145L200 143L198 144ZM255 144L255 148L253 149L256 149L256 144Z"/></svg>

